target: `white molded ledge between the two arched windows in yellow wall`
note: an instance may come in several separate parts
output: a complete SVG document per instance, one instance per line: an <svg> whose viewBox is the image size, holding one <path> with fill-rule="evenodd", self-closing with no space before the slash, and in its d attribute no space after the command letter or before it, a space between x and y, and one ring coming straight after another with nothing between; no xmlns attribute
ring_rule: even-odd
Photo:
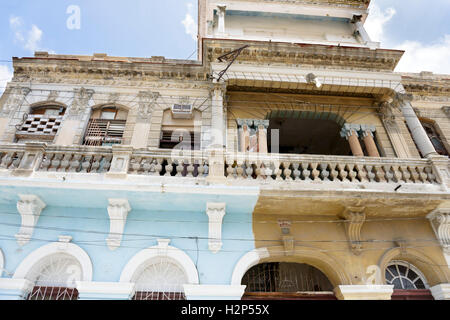
<svg viewBox="0 0 450 320"><path fill-rule="evenodd" d="M391 300L393 285L344 285L334 293L339 300Z"/></svg>

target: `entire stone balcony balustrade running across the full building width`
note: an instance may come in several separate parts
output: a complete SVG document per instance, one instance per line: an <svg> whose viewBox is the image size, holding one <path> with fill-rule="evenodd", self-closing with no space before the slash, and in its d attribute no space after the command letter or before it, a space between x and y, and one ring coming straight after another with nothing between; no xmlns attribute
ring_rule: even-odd
<svg viewBox="0 0 450 320"><path fill-rule="evenodd" d="M394 159L315 155L214 153L129 146L47 146L44 143L0 146L0 171L97 173L143 177L250 183L406 183L448 185L447 157ZM5 174L5 173L3 173Z"/></svg>

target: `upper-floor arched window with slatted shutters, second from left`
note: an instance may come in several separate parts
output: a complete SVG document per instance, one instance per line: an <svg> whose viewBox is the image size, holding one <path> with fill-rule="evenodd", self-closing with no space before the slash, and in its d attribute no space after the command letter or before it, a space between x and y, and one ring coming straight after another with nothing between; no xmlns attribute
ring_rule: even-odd
<svg viewBox="0 0 450 320"><path fill-rule="evenodd" d="M115 106L94 109L84 135L84 145L109 146L121 144L128 111Z"/></svg>

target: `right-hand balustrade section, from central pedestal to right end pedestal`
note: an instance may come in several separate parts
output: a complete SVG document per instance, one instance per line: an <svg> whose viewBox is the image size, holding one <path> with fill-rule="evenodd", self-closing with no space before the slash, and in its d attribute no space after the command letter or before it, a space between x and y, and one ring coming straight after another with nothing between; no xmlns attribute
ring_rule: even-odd
<svg viewBox="0 0 450 320"><path fill-rule="evenodd" d="M228 180L437 183L426 159L238 154L225 166Z"/></svg>

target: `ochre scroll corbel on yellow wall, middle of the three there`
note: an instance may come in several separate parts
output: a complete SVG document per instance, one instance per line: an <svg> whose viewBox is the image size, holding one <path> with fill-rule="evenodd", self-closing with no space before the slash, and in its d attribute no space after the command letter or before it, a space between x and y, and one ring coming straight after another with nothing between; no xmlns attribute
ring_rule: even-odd
<svg viewBox="0 0 450 320"><path fill-rule="evenodd" d="M366 220L365 209L365 207L347 207L342 213L342 218L345 219L345 232L355 255L362 252L361 228Z"/></svg>

